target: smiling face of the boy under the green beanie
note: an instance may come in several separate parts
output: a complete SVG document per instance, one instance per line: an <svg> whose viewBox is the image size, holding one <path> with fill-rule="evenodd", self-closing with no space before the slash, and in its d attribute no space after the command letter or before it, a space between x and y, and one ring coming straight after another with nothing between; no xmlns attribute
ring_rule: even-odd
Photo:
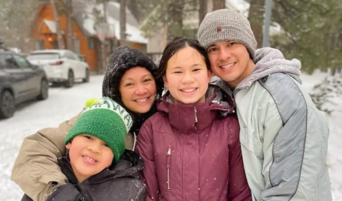
<svg viewBox="0 0 342 201"><path fill-rule="evenodd" d="M79 182L107 168L114 158L104 141L87 134L75 136L65 147L69 149L71 167Z"/></svg>

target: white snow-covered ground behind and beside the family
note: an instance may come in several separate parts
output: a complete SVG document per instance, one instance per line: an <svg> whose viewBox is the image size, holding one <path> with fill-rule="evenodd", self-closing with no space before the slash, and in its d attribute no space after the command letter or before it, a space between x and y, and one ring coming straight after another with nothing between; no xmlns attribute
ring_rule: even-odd
<svg viewBox="0 0 342 201"><path fill-rule="evenodd" d="M302 75L303 85L312 91L326 74ZM72 88L50 88L45 101L30 101L16 111L14 117L0 120L0 195L3 201L19 201L22 191L10 181L11 169L18 155L22 139L44 127L56 127L62 121L78 114L89 98L101 97L103 76L92 76L89 83L75 84ZM341 98L341 97L340 97ZM342 201L342 102L336 98L335 111L329 117L329 173L334 201Z"/></svg>

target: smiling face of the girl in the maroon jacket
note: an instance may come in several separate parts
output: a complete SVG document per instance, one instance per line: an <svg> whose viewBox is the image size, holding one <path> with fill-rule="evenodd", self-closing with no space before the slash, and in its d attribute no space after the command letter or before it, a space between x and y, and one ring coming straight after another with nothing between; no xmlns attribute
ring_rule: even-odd
<svg viewBox="0 0 342 201"><path fill-rule="evenodd" d="M212 78L203 56L194 48L186 46L178 50L168 61L163 76L165 87L176 103L205 101L205 93Z"/></svg>

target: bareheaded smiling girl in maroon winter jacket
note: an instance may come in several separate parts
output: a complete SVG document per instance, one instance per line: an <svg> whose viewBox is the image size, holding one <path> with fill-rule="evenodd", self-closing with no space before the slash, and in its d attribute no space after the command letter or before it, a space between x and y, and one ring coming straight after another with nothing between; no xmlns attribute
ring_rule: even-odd
<svg viewBox="0 0 342 201"><path fill-rule="evenodd" d="M147 200L251 200L239 144L239 124L198 41L176 38L163 52L158 76L169 91L140 129ZM232 106L232 105L229 105ZM224 115L227 115L223 117Z"/></svg>

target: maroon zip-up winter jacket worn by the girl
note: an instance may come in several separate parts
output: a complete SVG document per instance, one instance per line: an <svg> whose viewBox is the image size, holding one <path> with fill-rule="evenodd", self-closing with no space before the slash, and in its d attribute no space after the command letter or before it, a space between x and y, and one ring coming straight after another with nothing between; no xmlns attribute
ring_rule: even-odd
<svg viewBox="0 0 342 201"><path fill-rule="evenodd" d="M143 124L136 151L145 161L147 200L247 201L239 125L214 88L203 103L175 104L167 93Z"/></svg>

